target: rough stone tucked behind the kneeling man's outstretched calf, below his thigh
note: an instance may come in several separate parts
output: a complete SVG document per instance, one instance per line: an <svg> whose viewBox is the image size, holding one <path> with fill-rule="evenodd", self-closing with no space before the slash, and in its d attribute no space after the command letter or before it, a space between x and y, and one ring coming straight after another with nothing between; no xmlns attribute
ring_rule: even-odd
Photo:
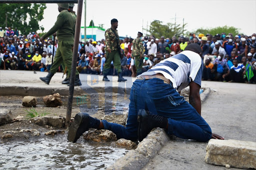
<svg viewBox="0 0 256 170"><path fill-rule="evenodd" d="M128 117L128 113L121 111L121 112L112 112L108 115L104 115L100 120L106 120L107 122L110 122L110 123L125 125L127 117Z"/></svg>

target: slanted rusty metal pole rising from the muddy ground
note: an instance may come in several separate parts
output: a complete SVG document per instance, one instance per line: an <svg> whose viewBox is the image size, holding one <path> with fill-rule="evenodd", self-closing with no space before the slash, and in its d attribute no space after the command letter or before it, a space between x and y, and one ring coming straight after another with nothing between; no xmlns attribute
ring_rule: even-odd
<svg viewBox="0 0 256 170"><path fill-rule="evenodd" d="M68 94L67 109L66 109L66 121L65 121L66 127L70 124L71 112L72 112L74 79L75 79L78 43L79 43L80 28L81 28L81 15L82 15L82 0L78 0L76 25L75 25L75 33L74 33L73 57L72 57L72 66L71 66L70 83L69 83L69 94Z"/></svg>

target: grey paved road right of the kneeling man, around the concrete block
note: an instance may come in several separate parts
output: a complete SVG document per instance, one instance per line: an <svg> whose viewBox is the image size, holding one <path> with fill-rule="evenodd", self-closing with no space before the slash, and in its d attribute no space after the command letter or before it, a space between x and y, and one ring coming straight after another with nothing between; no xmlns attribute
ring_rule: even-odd
<svg viewBox="0 0 256 170"><path fill-rule="evenodd" d="M212 88L201 112L212 132L225 139L256 142L256 85L203 81L202 87ZM204 163L206 146L173 139L143 170L224 170Z"/></svg>

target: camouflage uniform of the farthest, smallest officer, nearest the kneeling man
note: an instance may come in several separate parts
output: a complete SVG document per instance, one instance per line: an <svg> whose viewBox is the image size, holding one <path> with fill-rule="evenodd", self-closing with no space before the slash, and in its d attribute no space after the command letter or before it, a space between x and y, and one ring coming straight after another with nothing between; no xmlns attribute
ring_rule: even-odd
<svg viewBox="0 0 256 170"><path fill-rule="evenodd" d="M142 73L142 66L143 66L143 45L141 39L137 37L132 41L132 56L135 60L136 72L137 75Z"/></svg>

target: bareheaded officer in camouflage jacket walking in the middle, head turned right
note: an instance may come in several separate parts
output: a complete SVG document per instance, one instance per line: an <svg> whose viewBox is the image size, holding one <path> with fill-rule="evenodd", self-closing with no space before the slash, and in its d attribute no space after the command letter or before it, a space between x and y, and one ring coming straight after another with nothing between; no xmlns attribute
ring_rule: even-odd
<svg viewBox="0 0 256 170"><path fill-rule="evenodd" d="M106 77L111 61L113 61L114 68L118 73L118 82L127 81L121 75L121 61L120 61L120 41L118 31L116 30L118 26L117 19L111 19L111 28L105 31L105 44L106 44L106 60L103 68L103 79L102 81L109 81Z"/></svg>

